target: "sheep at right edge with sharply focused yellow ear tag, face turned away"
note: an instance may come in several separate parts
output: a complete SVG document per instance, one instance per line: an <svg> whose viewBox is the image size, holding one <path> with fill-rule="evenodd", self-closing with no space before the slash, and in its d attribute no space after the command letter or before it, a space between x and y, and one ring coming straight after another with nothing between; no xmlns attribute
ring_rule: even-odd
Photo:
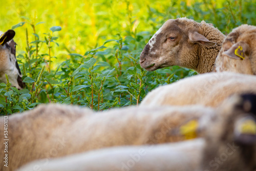
<svg viewBox="0 0 256 171"><path fill-rule="evenodd" d="M215 72L230 71L256 75L256 27L241 25L223 41L215 61Z"/></svg>

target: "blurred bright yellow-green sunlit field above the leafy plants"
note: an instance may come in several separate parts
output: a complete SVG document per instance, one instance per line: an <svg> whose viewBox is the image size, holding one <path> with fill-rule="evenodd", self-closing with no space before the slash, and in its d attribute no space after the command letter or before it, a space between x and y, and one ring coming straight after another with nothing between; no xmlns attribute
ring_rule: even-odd
<svg viewBox="0 0 256 171"><path fill-rule="evenodd" d="M35 26L39 37L50 32L52 26L61 26L62 30L54 34L59 36L59 48L53 49L53 52L58 60L65 60L69 58L69 53L83 55L86 51L102 45L107 39L118 39L118 33L122 37L135 36L142 31L148 31L152 35L169 18L186 16L197 21L204 19L214 23L224 33L230 30L230 23L232 26L255 24L253 4L256 2L15 0L3 3L5 6L1 7L0 12L1 31L11 29L20 22L27 22L23 27L15 29L19 53L25 51L26 28L29 39L34 39L29 23L44 22ZM229 3L232 12L229 10Z"/></svg>

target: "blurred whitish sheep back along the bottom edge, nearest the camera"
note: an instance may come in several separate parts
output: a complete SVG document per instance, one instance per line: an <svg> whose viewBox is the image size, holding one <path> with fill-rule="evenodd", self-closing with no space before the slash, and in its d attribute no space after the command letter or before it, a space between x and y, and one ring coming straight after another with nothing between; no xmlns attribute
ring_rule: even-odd
<svg viewBox="0 0 256 171"><path fill-rule="evenodd" d="M31 162L17 171L187 171L200 165L203 139L121 146Z"/></svg>

